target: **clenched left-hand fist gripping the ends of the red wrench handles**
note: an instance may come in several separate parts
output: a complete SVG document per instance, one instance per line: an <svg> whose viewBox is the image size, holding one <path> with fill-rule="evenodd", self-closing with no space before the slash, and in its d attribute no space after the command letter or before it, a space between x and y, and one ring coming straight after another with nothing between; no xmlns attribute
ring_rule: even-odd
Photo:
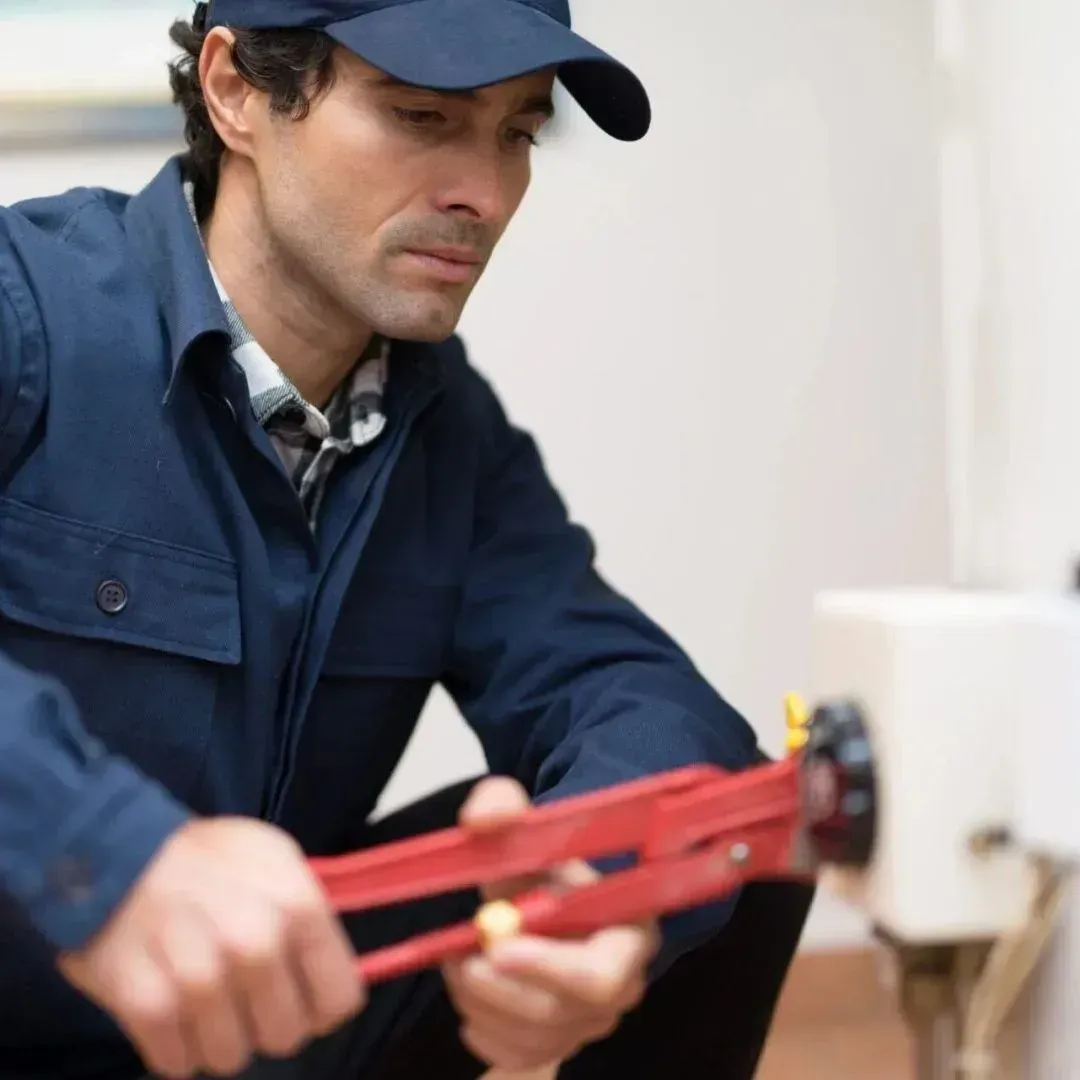
<svg viewBox="0 0 1080 1080"><path fill-rule="evenodd" d="M353 954L303 853L264 822L175 833L64 975L165 1077L289 1056L363 1004Z"/></svg>

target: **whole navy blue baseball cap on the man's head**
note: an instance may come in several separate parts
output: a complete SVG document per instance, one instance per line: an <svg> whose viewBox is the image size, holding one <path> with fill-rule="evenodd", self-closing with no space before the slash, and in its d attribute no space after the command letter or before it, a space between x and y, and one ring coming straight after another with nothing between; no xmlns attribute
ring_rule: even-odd
<svg viewBox="0 0 1080 1080"><path fill-rule="evenodd" d="M637 76L570 29L569 0L210 0L198 21L206 29L323 30L426 90L477 90L553 67L608 135L634 141L651 121Z"/></svg>

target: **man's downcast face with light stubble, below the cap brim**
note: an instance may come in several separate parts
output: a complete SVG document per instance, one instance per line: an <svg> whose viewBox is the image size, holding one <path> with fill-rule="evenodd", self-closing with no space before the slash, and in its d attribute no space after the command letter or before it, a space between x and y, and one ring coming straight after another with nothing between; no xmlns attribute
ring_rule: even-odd
<svg viewBox="0 0 1080 1080"><path fill-rule="evenodd" d="M345 50L335 70L303 120L255 132L271 251L375 332L442 340L528 188L554 75L449 95Z"/></svg>

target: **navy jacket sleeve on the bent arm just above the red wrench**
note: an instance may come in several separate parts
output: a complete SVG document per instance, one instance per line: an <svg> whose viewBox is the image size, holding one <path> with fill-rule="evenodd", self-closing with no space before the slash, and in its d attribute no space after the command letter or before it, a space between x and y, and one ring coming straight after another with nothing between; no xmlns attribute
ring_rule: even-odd
<svg viewBox="0 0 1080 1080"><path fill-rule="evenodd" d="M447 688L491 771L544 802L686 765L759 760L746 721L597 572L532 438L476 379L486 441ZM669 943L707 935L729 910L720 902L667 920Z"/></svg>

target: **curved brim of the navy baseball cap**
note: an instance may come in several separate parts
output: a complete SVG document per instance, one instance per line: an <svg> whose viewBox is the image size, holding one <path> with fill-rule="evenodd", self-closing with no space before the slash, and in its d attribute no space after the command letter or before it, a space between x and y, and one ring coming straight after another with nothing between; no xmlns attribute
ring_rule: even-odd
<svg viewBox="0 0 1080 1080"><path fill-rule="evenodd" d="M509 0L413 0L332 23L326 32L373 67L429 90L478 90L555 68L608 135L643 138L649 97L627 67L535 8Z"/></svg>

